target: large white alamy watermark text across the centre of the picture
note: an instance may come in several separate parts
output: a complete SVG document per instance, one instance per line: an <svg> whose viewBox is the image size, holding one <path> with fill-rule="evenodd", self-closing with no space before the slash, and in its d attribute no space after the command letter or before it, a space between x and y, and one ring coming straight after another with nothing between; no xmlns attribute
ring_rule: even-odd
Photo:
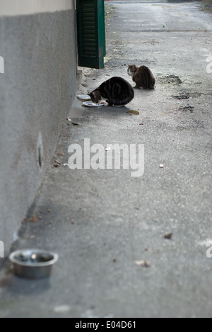
<svg viewBox="0 0 212 332"><path fill-rule="evenodd" d="M84 139L84 146L69 146L69 168L71 170L131 170L131 177L144 174L143 144L102 144L90 146L90 139Z"/></svg>

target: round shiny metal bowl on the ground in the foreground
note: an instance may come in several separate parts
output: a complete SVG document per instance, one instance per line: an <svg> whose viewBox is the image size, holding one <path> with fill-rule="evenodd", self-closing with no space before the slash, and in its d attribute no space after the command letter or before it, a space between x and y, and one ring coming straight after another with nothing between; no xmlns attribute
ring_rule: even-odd
<svg viewBox="0 0 212 332"><path fill-rule="evenodd" d="M14 273L25 279L42 279L51 275L52 266L58 255L47 250L16 250L9 256L13 262Z"/></svg>

